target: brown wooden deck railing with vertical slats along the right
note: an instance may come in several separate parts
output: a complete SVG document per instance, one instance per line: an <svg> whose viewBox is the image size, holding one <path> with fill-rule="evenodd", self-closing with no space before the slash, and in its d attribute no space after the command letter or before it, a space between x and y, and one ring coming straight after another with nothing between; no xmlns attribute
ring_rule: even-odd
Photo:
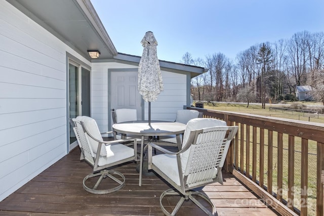
<svg viewBox="0 0 324 216"><path fill-rule="evenodd" d="M282 215L323 215L324 124L196 109L239 130L227 171Z"/></svg>

